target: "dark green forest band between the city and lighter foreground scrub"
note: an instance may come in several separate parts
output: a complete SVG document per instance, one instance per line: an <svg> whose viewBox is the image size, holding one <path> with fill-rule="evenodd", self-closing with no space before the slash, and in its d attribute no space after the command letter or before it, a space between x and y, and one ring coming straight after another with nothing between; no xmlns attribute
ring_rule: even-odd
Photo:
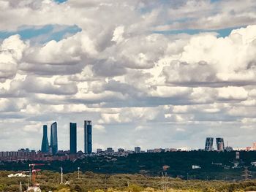
<svg viewBox="0 0 256 192"><path fill-rule="evenodd" d="M236 160L236 152L170 152L170 153L136 153L128 157L92 156L77 161L46 162L39 169L60 171L62 166L65 173L75 172L80 167L83 172L101 174L143 174L146 176L161 176L162 166L170 166L164 174L168 177L179 177L183 180L243 180L244 166L248 166L250 178L256 178L256 152L240 152ZM20 161L1 162L0 170L28 170L31 162ZM33 162L36 163L36 162ZM40 162L42 163L42 162ZM233 168L236 164L236 168ZM192 169L192 165L201 169Z"/></svg>

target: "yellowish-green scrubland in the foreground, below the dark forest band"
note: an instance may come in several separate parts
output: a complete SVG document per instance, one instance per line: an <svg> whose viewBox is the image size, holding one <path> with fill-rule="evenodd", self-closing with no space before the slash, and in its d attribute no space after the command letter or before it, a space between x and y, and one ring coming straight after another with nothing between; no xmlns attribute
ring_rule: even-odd
<svg viewBox="0 0 256 192"><path fill-rule="evenodd" d="M13 172L0 172L0 191L18 191L20 181L23 190L29 182L29 177L7 177ZM59 184L61 175L58 172L42 171L37 175L37 183L42 191L254 191L256 180L241 182L181 180L170 177L148 177L143 174L96 174L93 172L78 172L64 174L64 183Z"/></svg>

